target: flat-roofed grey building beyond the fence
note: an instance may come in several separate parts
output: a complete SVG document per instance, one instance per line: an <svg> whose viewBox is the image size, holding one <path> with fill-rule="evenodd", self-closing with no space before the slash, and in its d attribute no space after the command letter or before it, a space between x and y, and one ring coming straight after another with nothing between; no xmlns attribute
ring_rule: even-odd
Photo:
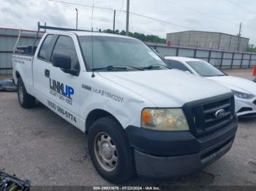
<svg viewBox="0 0 256 191"><path fill-rule="evenodd" d="M245 52L249 39L231 34L207 31L182 31L166 36L168 46L202 47L215 50Z"/></svg>

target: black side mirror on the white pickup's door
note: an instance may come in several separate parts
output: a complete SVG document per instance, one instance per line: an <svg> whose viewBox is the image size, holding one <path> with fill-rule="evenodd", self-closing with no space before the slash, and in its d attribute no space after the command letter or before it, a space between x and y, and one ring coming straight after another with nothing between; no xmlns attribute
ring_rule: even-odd
<svg viewBox="0 0 256 191"><path fill-rule="evenodd" d="M69 55L53 53L53 66L61 69L71 69L71 58Z"/></svg>

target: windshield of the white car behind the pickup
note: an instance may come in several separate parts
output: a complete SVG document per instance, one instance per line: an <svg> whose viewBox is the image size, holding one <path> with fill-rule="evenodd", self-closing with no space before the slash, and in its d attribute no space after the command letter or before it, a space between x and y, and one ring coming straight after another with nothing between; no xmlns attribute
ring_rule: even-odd
<svg viewBox="0 0 256 191"><path fill-rule="evenodd" d="M187 64L202 77L219 77L225 74L206 61L187 61Z"/></svg>

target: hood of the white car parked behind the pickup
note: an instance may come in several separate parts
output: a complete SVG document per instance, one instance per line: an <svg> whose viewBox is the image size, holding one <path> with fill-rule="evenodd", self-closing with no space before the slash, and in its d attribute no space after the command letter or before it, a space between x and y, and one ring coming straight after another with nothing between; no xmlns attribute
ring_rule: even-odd
<svg viewBox="0 0 256 191"><path fill-rule="evenodd" d="M224 85L230 90L236 90L244 93L252 93L256 95L256 83L249 81L248 79L244 79L241 77L231 77L231 76L207 77L207 78L214 80L215 82L218 82L220 85Z"/></svg>

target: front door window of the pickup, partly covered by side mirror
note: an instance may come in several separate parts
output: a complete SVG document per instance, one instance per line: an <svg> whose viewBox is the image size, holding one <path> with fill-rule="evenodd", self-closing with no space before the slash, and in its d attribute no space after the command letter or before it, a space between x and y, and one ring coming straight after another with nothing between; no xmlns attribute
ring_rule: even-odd
<svg viewBox="0 0 256 191"><path fill-rule="evenodd" d="M79 71L80 66L78 55L75 51L75 44L69 36L59 36L59 39L53 48L53 54L54 53L69 55L71 58L71 69L76 69ZM50 61L53 61L53 54L51 55Z"/></svg>

